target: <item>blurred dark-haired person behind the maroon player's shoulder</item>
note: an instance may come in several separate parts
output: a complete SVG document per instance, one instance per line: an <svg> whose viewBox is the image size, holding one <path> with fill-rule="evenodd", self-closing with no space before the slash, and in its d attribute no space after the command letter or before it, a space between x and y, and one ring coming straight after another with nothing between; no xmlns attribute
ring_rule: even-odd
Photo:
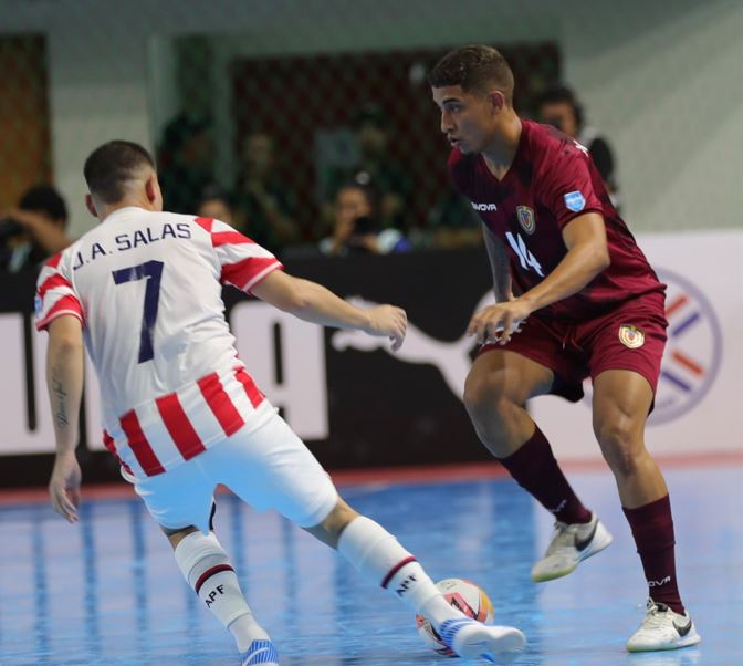
<svg viewBox="0 0 743 666"><path fill-rule="evenodd" d="M617 205L618 194L614 154L606 138L594 127L586 125L585 111L573 91L565 85L548 89L540 98L538 119L554 125L588 148L604 185Z"/></svg>

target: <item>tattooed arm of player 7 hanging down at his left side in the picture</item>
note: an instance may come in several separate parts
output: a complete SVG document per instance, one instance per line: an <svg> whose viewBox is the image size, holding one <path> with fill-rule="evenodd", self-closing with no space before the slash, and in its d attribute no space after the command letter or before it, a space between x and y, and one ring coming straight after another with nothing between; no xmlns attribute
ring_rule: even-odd
<svg viewBox="0 0 743 666"><path fill-rule="evenodd" d="M69 522L76 522L81 471L75 446L83 393L83 332L75 316L65 314L49 325L46 387L56 439L49 492L54 510Z"/></svg>

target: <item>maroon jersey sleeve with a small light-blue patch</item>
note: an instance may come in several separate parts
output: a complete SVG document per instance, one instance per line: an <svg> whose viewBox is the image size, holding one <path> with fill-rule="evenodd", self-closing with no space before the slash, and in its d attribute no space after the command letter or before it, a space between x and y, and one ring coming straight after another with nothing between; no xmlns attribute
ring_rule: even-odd
<svg viewBox="0 0 743 666"><path fill-rule="evenodd" d="M546 177L540 196L561 229L586 212L604 212L590 173L590 158L577 144L564 146L554 157L548 157L542 168Z"/></svg>

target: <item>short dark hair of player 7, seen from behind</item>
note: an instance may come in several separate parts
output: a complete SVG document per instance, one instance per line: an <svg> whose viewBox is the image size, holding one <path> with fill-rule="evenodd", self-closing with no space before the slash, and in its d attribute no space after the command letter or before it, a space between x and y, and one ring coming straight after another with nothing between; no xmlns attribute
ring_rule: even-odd
<svg viewBox="0 0 743 666"><path fill-rule="evenodd" d="M145 167L155 170L155 160L145 148L116 139L93 150L85 160L83 173L91 194L106 204L116 204L126 195L127 181Z"/></svg>

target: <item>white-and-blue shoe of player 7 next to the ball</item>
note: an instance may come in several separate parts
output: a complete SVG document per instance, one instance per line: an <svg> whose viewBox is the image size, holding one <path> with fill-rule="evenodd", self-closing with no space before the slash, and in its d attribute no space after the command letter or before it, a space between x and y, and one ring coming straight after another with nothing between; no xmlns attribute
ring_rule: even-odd
<svg viewBox="0 0 743 666"><path fill-rule="evenodd" d="M519 629L482 624L470 617L447 620L438 633L460 657L480 657L491 664L511 664L526 646L526 637Z"/></svg>

